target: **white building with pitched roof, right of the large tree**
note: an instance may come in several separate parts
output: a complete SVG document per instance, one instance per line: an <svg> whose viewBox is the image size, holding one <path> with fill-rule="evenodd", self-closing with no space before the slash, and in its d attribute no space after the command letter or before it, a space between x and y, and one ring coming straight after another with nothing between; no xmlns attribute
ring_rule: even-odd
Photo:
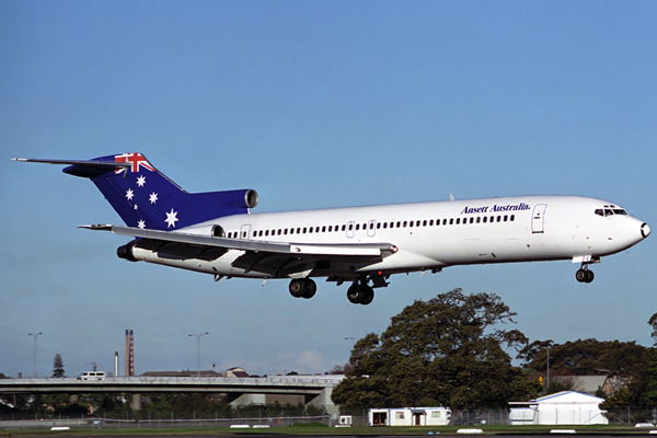
<svg viewBox="0 0 657 438"><path fill-rule="evenodd" d="M511 425L609 424L598 405L604 399L575 391L562 391L529 402L510 402Z"/></svg>

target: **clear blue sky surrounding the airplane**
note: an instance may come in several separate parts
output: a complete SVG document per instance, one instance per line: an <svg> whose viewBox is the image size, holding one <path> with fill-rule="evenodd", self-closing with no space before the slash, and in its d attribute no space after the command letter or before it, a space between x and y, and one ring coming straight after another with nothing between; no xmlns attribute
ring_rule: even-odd
<svg viewBox="0 0 657 438"><path fill-rule="evenodd" d="M415 299L493 292L531 341L649 345L655 238L568 262L392 277L369 307L320 281L221 280L116 257L88 181L12 157L142 152L189 192L255 211L522 194L618 203L657 227L649 1L0 2L0 372L241 366L324 372Z"/></svg>

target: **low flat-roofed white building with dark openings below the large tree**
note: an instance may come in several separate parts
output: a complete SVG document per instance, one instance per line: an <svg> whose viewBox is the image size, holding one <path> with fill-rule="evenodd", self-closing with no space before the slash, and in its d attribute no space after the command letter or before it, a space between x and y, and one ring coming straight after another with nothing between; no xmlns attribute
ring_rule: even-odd
<svg viewBox="0 0 657 438"><path fill-rule="evenodd" d="M387 407L368 411L370 426L447 426L449 407Z"/></svg>

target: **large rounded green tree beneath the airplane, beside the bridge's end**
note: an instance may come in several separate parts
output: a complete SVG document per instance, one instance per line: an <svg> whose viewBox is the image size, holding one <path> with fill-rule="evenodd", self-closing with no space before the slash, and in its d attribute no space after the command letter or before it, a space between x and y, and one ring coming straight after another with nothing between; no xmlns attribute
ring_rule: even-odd
<svg viewBox="0 0 657 438"><path fill-rule="evenodd" d="M504 406L538 388L511 367L505 348L527 338L500 330L515 313L499 297L461 289L415 301L392 318L379 336L370 333L351 350L345 379L333 391L345 406L417 406L431 402L454 408Z"/></svg>

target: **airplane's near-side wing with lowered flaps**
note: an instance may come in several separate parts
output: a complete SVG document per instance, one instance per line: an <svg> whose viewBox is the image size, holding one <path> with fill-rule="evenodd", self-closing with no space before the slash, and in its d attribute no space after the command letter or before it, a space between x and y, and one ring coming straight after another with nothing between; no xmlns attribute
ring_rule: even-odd
<svg viewBox="0 0 657 438"><path fill-rule="evenodd" d="M211 261L222 256L229 250L241 250L244 254L233 262L234 267L273 275L312 270L318 263L344 257L349 257L356 264L368 265L397 252L397 247L391 243L266 242L110 224L80 228L139 238L141 239L137 243L139 247L183 258Z"/></svg>

